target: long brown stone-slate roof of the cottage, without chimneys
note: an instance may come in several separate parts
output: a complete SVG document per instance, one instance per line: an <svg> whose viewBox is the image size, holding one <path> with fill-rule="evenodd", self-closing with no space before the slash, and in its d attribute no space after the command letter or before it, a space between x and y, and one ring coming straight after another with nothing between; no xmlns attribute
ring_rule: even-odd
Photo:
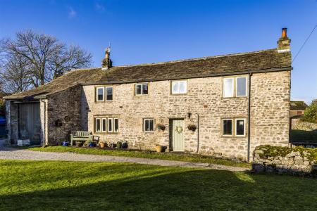
<svg viewBox="0 0 317 211"><path fill-rule="evenodd" d="M72 70L42 87L7 96L6 99L44 98L76 84L121 84L280 70L291 70L291 53L278 53L277 49L269 49L163 63L115 66L108 70Z"/></svg>

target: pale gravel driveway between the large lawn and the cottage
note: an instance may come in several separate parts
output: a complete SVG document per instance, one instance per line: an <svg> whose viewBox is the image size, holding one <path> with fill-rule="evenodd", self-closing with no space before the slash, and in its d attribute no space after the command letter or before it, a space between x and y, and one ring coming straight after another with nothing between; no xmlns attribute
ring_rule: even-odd
<svg viewBox="0 0 317 211"><path fill-rule="evenodd" d="M209 163L183 162L174 160L159 160L148 158L128 158L109 155L83 155L75 153L50 153L21 150L4 146L4 140L0 140L0 159L4 160L67 160L88 162L133 162L146 165L161 165L172 167L205 168L211 170L228 170L232 172L243 172L249 170L244 167L230 167Z"/></svg>

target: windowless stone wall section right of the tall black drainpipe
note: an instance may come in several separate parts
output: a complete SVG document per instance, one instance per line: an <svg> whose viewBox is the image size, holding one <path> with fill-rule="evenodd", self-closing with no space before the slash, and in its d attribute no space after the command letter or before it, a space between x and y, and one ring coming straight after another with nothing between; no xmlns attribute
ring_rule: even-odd
<svg viewBox="0 0 317 211"><path fill-rule="evenodd" d="M288 146L290 71L254 74L251 79L251 152L256 146Z"/></svg>

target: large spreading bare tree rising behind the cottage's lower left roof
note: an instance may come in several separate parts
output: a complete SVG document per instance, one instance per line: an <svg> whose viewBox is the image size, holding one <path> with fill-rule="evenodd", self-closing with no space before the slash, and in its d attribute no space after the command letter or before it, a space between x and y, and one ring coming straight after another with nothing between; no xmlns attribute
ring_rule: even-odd
<svg viewBox="0 0 317 211"><path fill-rule="evenodd" d="M73 68L87 68L92 65L91 53L79 46L68 48L56 37L37 34L32 30L18 32L16 39L6 39L3 42L3 49L9 55L4 66L9 65L10 60L16 59L16 56L23 58L30 70L27 77L34 87L39 87Z"/></svg>

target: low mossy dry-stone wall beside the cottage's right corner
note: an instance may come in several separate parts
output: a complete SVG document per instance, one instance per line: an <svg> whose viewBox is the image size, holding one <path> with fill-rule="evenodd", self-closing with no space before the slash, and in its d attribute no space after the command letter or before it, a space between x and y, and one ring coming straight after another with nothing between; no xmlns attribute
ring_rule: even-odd
<svg viewBox="0 0 317 211"><path fill-rule="evenodd" d="M254 151L252 169L255 172L317 176L317 160L313 155L316 151L302 147L258 146Z"/></svg>

